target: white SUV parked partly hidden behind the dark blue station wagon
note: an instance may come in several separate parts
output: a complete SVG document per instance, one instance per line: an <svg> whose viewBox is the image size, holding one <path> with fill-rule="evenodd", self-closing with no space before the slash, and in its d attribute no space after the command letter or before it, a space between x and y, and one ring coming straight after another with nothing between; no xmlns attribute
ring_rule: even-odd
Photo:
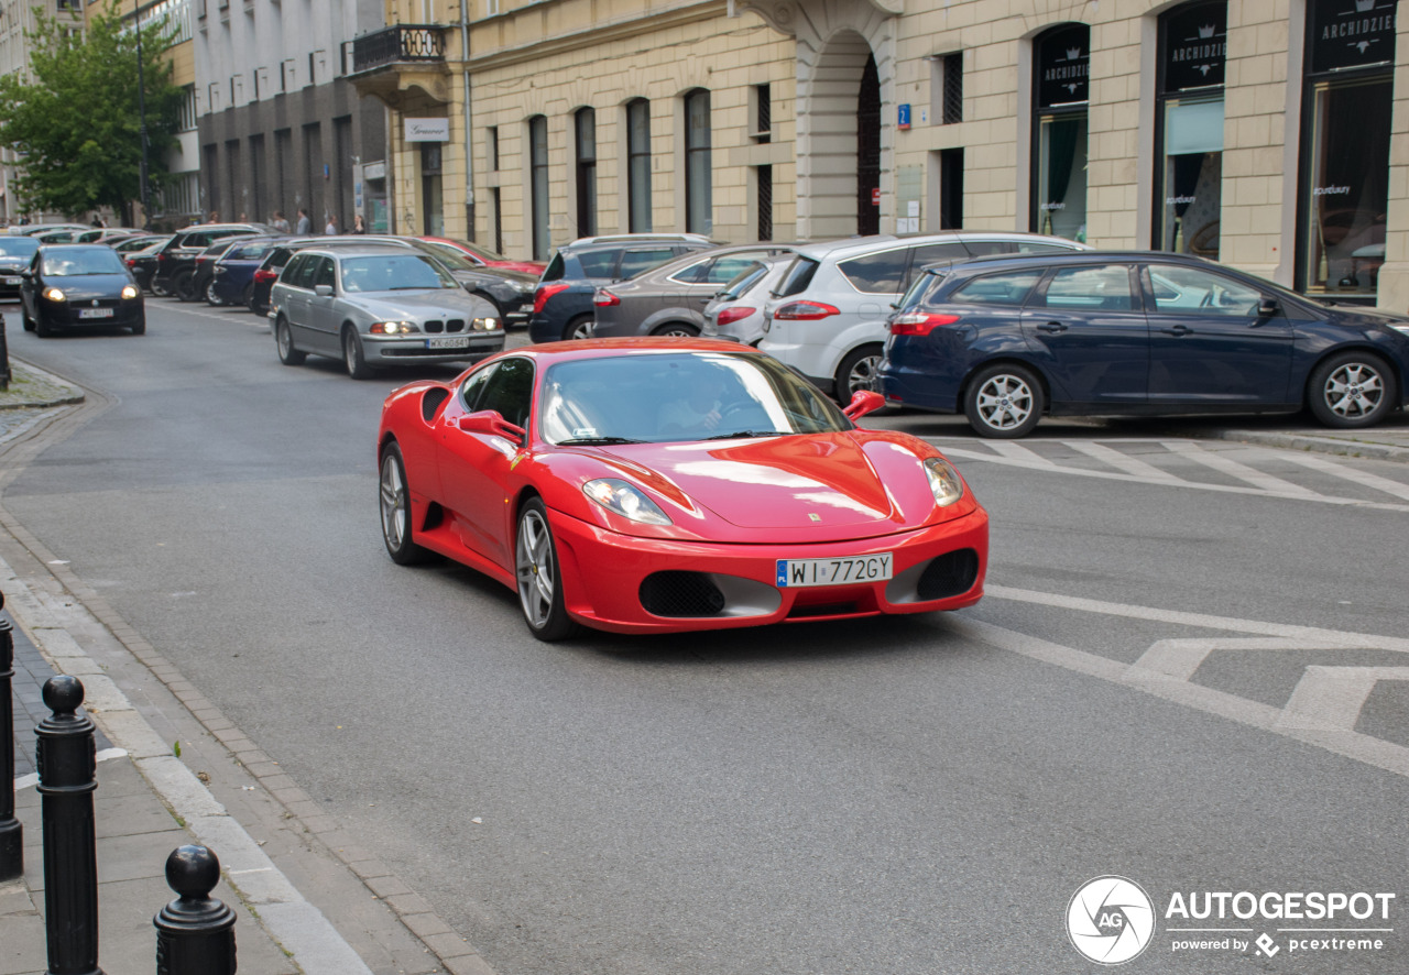
<svg viewBox="0 0 1409 975"><path fill-rule="evenodd" d="M926 265L1085 249L1061 237L962 230L802 245L764 306L758 348L845 404L857 390L876 389L886 316Z"/></svg>

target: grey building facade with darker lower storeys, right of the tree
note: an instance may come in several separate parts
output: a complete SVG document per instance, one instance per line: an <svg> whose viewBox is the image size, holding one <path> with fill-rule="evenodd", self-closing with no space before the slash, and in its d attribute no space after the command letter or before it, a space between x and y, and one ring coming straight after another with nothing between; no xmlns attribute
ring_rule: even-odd
<svg viewBox="0 0 1409 975"><path fill-rule="evenodd" d="M348 80L380 3L193 0L200 204L221 220L299 210L323 232L387 225L386 110Z"/></svg>

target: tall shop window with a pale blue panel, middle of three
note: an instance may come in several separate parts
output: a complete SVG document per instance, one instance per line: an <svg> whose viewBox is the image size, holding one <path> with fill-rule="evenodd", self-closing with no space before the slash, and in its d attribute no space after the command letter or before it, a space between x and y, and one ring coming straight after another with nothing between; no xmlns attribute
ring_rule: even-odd
<svg viewBox="0 0 1409 975"><path fill-rule="evenodd" d="M1219 258L1226 59L1226 0L1196 0L1160 15L1157 251Z"/></svg>

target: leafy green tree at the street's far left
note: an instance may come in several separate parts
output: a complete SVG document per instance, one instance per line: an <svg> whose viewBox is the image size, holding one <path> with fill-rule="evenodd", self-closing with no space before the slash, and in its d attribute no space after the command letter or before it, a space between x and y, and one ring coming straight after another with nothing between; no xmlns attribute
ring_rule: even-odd
<svg viewBox="0 0 1409 975"><path fill-rule="evenodd" d="M141 197L137 32L113 0L86 27L37 11L30 73L0 77L0 144L24 154L15 192L30 207L83 214L100 206L130 217ZM149 186L155 196L176 144L183 92L165 52L173 30L142 28Z"/></svg>

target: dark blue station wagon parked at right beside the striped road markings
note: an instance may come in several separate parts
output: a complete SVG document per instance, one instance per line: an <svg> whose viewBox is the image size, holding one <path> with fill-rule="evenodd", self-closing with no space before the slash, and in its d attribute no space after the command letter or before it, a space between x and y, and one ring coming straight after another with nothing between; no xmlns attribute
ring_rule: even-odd
<svg viewBox="0 0 1409 975"><path fill-rule="evenodd" d="M1329 306L1178 254L1085 251L926 269L889 318L892 404L983 437L1043 414L1289 413L1368 427L1405 406L1409 318Z"/></svg>

